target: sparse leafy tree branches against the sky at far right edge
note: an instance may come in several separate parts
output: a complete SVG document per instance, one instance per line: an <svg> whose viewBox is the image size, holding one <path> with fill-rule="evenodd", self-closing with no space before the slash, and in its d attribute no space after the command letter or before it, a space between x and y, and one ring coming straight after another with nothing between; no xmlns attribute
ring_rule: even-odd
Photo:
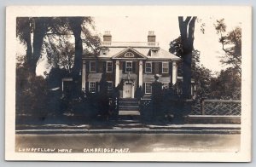
<svg viewBox="0 0 256 167"><path fill-rule="evenodd" d="M221 62L232 66L233 70L241 75L241 27L236 26L234 30L226 32L224 19L216 20L214 26L217 34L220 35L219 43L222 44L225 53Z"/></svg>

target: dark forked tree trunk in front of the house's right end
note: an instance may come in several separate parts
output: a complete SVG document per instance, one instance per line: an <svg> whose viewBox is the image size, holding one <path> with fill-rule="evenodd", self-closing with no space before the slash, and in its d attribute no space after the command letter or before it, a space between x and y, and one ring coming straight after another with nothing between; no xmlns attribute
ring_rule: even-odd
<svg viewBox="0 0 256 167"><path fill-rule="evenodd" d="M187 17L183 20L182 16L178 17L181 40L183 43L183 98L191 97L191 61L192 50L194 49L194 31L196 17Z"/></svg>

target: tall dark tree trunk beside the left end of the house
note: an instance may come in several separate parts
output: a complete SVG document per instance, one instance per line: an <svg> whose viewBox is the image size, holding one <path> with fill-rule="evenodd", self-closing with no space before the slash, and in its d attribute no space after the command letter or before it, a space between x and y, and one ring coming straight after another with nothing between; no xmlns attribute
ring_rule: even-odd
<svg viewBox="0 0 256 167"><path fill-rule="evenodd" d="M73 35L75 37L75 57L73 64L73 86L76 91L75 94L78 95L81 91L81 83L79 73L82 68L82 55L83 55L83 43L81 38L82 23L83 18L73 17L69 19L70 27L72 29Z"/></svg>

